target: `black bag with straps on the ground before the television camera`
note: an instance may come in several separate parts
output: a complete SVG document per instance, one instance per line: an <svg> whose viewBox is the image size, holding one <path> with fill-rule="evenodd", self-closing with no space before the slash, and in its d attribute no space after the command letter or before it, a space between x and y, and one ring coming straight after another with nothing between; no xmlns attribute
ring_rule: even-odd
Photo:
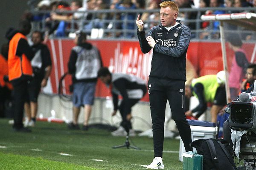
<svg viewBox="0 0 256 170"><path fill-rule="evenodd" d="M237 170L233 149L224 139L198 139L191 145L203 155L204 170Z"/></svg>

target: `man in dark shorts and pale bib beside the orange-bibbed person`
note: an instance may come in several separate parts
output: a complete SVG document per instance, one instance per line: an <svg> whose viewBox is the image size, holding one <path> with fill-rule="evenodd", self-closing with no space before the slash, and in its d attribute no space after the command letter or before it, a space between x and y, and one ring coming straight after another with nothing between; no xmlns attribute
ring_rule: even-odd
<svg viewBox="0 0 256 170"><path fill-rule="evenodd" d="M41 87L47 85L48 77L52 70L52 61L50 51L47 45L44 45L43 34L40 31L32 33L32 49L35 57L31 60L33 68L33 79L28 82L28 96L24 108L27 115L24 126L34 127L36 122L36 114L38 111L38 95Z"/></svg>

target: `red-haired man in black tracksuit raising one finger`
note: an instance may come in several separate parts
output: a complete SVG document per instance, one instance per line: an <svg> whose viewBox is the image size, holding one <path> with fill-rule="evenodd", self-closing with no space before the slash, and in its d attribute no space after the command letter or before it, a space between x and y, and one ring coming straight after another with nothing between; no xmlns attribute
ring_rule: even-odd
<svg viewBox="0 0 256 170"><path fill-rule="evenodd" d="M154 26L145 38L143 20L136 20L140 48L148 53L153 48L148 94L153 123L154 160L147 169L163 169L163 138L166 102L169 105L186 151L190 146L191 130L184 113L186 81L186 52L190 42L190 29L177 20L178 7L172 1L160 4L162 25Z"/></svg>

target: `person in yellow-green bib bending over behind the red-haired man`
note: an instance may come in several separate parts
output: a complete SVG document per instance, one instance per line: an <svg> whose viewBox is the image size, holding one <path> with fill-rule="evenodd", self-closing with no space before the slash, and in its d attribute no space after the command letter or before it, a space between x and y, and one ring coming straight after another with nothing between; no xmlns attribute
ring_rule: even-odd
<svg viewBox="0 0 256 170"><path fill-rule="evenodd" d="M225 72L220 71L216 75L205 75L192 81L189 88L185 89L185 95L189 98L195 96L199 100L198 106L186 111L186 116L196 113L199 118L207 109L207 103L212 103L212 122L217 122L217 115L227 105L225 91Z"/></svg>

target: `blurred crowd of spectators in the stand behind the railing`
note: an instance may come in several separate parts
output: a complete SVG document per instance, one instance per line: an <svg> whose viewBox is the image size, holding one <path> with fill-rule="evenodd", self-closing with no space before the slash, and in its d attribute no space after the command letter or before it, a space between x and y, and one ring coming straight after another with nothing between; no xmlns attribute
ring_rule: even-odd
<svg viewBox="0 0 256 170"><path fill-rule="evenodd" d="M145 23L145 29L160 24L159 4L163 0L41 0L34 11L25 11L23 18L35 21L46 36L53 34L55 37L67 37L70 32L83 30L88 35L93 28L104 29L105 37L133 38L136 29L134 20L141 13ZM177 6L182 8L207 8L215 7L255 7L256 0L174 0ZM71 2L71 3L69 3ZM137 12L131 10L145 9L156 11ZM103 10L103 11L102 11ZM106 11L108 10L108 11ZM129 10L125 12L125 10ZM113 11L113 12L112 12ZM218 39L219 23L200 21L199 28L196 27L197 19L202 14L224 14L241 12L238 10L206 10L182 11L179 20L188 25L192 30L192 38L197 31L200 39ZM199 16L198 16L199 15ZM230 29L237 29L231 26ZM246 35L244 39L249 40L251 36Z"/></svg>

